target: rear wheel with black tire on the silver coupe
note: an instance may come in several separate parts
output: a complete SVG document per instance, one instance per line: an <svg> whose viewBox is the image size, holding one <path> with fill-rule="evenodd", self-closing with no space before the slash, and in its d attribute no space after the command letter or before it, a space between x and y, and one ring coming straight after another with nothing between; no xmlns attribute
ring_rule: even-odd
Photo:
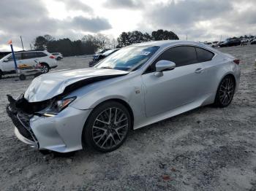
<svg viewBox="0 0 256 191"><path fill-rule="evenodd" d="M219 83L217 94L215 96L214 106L226 107L233 100L235 94L236 82L232 76L226 76Z"/></svg>

